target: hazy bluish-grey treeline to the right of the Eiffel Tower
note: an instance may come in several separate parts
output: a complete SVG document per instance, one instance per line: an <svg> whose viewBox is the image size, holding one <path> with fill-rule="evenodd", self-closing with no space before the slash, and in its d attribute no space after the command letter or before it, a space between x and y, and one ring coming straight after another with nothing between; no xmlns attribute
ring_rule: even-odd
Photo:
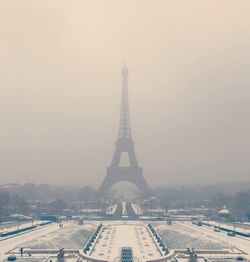
<svg viewBox="0 0 250 262"><path fill-rule="evenodd" d="M229 208L235 216L250 219L250 184L164 187L153 191L166 209L207 207Z"/></svg>

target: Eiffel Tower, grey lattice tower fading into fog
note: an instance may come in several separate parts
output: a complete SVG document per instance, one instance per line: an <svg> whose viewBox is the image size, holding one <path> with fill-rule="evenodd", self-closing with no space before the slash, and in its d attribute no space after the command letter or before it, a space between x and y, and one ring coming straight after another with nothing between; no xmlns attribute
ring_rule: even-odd
<svg viewBox="0 0 250 262"><path fill-rule="evenodd" d="M131 135L128 103L128 68L122 68L122 101L118 139L115 143L115 153L111 165L107 168L107 175L99 189L99 196L106 197L110 188L120 182L128 181L137 186L141 196L150 196L148 184L143 177L142 168L139 167L134 151L134 142ZM120 166L122 154L128 155L128 166Z"/></svg>

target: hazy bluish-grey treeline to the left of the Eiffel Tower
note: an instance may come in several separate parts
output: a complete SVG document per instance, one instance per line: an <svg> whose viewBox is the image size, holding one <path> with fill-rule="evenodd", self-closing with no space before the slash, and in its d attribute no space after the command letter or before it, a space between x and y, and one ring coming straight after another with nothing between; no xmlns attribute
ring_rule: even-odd
<svg viewBox="0 0 250 262"><path fill-rule="evenodd" d="M95 199L95 191L89 186L69 187L47 184L24 184L0 188L0 217L11 214L41 213L63 214L65 209L76 209L77 203ZM78 205L78 209L81 204ZM84 207L84 205L82 206Z"/></svg>

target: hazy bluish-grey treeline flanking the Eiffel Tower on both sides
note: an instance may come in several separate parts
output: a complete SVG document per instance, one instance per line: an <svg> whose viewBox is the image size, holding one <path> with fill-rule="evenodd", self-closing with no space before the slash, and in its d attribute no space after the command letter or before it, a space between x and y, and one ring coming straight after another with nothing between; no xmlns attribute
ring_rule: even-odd
<svg viewBox="0 0 250 262"><path fill-rule="evenodd" d="M210 186L161 187L152 190L159 207L165 209L224 205L239 217L250 218L250 184L221 184ZM0 188L0 217L42 212L63 214L63 210L88 208L95 202L96 191L89 187L24 184ZM101 205L101 204L100 204ZM97 204L95 202L95 206Z"/></svg>

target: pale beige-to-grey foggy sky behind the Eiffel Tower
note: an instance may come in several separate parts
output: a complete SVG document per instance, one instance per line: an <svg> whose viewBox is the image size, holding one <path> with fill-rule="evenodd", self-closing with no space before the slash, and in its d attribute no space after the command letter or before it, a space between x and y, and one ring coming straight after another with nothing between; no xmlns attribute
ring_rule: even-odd
<svg viewBox="0 0 250 262"><path fill-rule="evenodd" d="M250 180L249 10L249 0L0 0L0 184L98 187L124 61L150 185Z"/></svg>

